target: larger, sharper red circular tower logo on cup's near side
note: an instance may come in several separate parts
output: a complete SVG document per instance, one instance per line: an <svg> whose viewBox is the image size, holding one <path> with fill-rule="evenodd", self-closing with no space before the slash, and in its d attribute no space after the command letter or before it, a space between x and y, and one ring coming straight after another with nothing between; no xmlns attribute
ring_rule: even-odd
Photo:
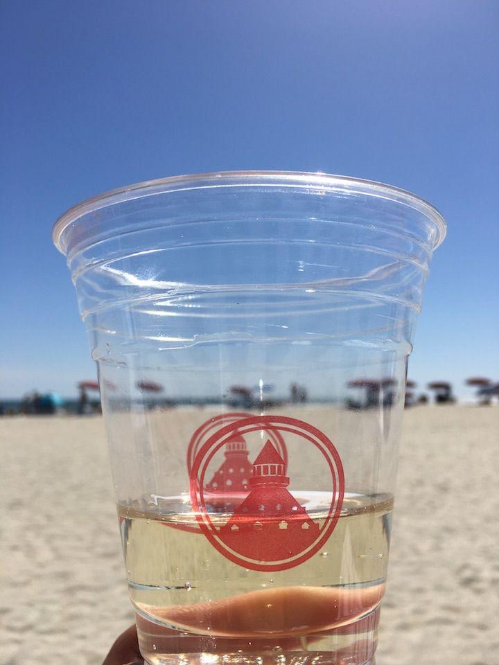
<svg viewBox="0 0 499 665"><path fill-rule="evenodd" d="M241 415L222 427L224 416L220 416L215 423L218 428L209 427L207 441L191 450L193 511L202 533L232 562L259 571L295 567L323 547L338 522L344 495L340 456L325 434L303 420ZM246 439L251 436L259 437L261 442L252 463L246 447ZM329 497L320 511L307 512L309 499L293 490L283 456L285 451L287 457L288 450L277 443L283 443L284 436L294 442L298 462L304 445L311 445L309 450L316 458L314 468L320 460L328 470L328 491L313 493ZM220 465L216 456L223 447L225 459ZM300 466L295 465L297 475Z"/></svg>

